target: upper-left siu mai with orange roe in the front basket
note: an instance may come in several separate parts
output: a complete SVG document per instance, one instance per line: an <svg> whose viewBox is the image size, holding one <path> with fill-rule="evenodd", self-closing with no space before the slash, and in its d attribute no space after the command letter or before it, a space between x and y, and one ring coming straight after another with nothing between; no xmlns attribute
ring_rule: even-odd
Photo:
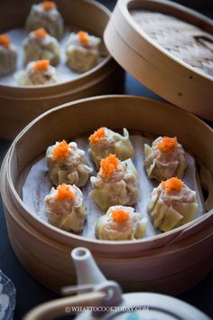
<svg viewBox="0 0 213 320"><path fill-rule="evenodd" d="M66 183L82 187L87 184L93 169L88 165L85 152L75 142L67 144L65 140L49 146L46 160L51 183Z"/></svg>

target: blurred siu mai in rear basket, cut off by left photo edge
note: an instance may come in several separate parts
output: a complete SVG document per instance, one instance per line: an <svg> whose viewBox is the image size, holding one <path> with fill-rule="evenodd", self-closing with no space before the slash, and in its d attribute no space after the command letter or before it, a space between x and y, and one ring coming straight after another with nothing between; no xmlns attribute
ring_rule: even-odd
<svg viewBox="0 0 213 320"><path fill-rule="evenodd" d="M14 72L17 61L17 50L9 35L0 34L0 77Z"/></svg>

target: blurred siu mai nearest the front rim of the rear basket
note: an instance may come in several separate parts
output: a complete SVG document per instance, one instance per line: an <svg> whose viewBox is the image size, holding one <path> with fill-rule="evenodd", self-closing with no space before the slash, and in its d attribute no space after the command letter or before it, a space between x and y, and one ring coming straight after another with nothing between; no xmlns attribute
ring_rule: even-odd
<svg viewBox="0 0 213 320"><path fill-rule="evenodd" d="M29 62L24 71L17 72L16 80L20 86L39 86L57 83L55 68L48 60Z"/></svg>

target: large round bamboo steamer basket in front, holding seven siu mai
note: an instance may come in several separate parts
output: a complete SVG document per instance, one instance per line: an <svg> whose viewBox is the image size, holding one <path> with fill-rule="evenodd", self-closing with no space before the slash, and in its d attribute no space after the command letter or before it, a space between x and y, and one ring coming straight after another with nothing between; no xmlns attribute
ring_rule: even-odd
<svg viewBox="0 0 213 320"><path fill-rule="evenodd" d="M22 201L22 189L35 159L52 141L88 134L103 124L179 136L202 168L200 179L208 190L209 211L172 231L119 242L88 240L61 231L30 212ZM80 246L91 250L106 277L125 290L181 293L213 267L212 144L213 131L199 118L152 99L103 96L52 108L15 138L2 165L1 191L14 252L32 276L54 291L76 283L70 250Z"/></svg>

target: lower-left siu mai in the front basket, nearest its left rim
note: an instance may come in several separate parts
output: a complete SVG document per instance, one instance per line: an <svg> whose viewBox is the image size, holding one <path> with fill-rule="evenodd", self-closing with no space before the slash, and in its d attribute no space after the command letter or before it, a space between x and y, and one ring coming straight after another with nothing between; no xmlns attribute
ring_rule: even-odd
<svg viewBox="0 0 213 320"><path fill-rule="evenodd" d="M44 199L48 221L65 231L80 232L87 218L83 194L76 185L60 184Z"/></svg>

